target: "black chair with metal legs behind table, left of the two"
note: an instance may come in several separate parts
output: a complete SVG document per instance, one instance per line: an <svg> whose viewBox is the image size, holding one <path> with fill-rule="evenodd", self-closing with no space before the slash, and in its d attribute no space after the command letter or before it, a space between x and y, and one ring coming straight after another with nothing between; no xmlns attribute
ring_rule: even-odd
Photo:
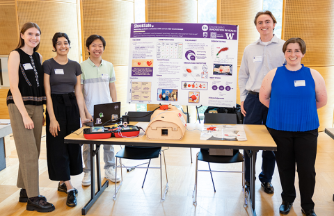
<svg viewBox="0 0 334 216"><path fill-rule="evenodd" d="M127 115L129 115L129 122L150 122L150 117L152 115L152 112L129 112L127 113ZM117 160L116 160L116 176L117 176L117 167L120 167L121 181L118 187L117 187L117 183L115 182L115 194L113 196L113 200L116 201L116 194L120 186L123 183L122 168L134 168L135 167L135 168L146 169L143 185L141 186L141 188L144 187L146 175L148 174L148 169L160 169L161 201L164 201L166 197L166 193L168 192L168 178L167 178L166 159L165 159L164 150L162 150L162 153L164 153L164 163L165 163L165 172L166 172L166 188L165 188L164 196L162 193L161 147L125 146L123 149L120 149L120 151L118 151L118 153L116 153L116 156L115 156L116 158L120 158L120 166L117 165ZM150 167L151 159L159 158L159 156L160 156L160 167ZM139 167L140 165L132 166L132 167L122 166L122 158L132 159L132 160L149 160L148 167Z"/></svg>

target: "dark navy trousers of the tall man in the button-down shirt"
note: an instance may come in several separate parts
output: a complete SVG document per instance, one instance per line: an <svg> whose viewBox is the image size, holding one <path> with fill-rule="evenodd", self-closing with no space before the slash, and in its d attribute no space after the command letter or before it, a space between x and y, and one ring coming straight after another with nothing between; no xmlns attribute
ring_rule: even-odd
<svg viewBox="0 0 334 216"><path fill-rule="evenodd" d="M258 95L248 94L244 101L244 109L246 111L244 124L266 124L268 108L260 102ZM250 181L250 158L248 157L246 150L244 150L244 158L245 181ZM262 183L271 182L273 172L275 171L275 163L276 159L273 151L262 151L262 172L259 175Z"/></svg>

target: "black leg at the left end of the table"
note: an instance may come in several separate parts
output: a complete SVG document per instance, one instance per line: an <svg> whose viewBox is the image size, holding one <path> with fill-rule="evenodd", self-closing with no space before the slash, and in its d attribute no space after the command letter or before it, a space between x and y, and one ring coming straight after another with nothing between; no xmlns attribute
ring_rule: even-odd
<svg viewBox="0 0 334 216"><path fill-rule="evenodd" d="M102 192L108 187L109 181L106 181L101 187L101 170L100 170L100 145L97 145L94 150L94 144L90 144L90 200L84 208L81 209L81 214L86 215L90 207L93 206L95 201L100 197ZM95 161L96 156L96 176L97 176L97 192L95 193Z"/></svg>

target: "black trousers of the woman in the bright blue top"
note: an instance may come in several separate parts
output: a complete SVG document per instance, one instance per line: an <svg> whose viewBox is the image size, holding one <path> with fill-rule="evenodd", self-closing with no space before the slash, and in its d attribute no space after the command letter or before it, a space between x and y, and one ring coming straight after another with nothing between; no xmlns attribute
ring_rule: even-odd
<svg viewBox="0 0 334 216"><path fill-rule="evenodd" d="M277 131L268 128L277 144L276 161L282 185L282 199L290 203L296 198L294 178L297 172L301 208L315 208L312 201L315 192L315 158L317 156L318 129L305 132Z"/></svg>

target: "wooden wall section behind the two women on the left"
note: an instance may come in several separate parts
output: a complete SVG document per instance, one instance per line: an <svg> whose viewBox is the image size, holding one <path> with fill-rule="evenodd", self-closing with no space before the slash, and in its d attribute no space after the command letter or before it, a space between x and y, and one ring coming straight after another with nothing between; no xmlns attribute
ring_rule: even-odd
<svg viewBox="0 0 334 216"><path fill-rule="evenodd" d="M79 1L79 0L78 0ZM70 38L68 58L79 62L79 28L77 0L0 0L0 55L8 55L17 47L19 31L26 22L40 26L38 53L47 60L56 56L52 52L52 36L64 32ZM6 97L9 88L0 88L0 118L9 119Z"/></svg>

